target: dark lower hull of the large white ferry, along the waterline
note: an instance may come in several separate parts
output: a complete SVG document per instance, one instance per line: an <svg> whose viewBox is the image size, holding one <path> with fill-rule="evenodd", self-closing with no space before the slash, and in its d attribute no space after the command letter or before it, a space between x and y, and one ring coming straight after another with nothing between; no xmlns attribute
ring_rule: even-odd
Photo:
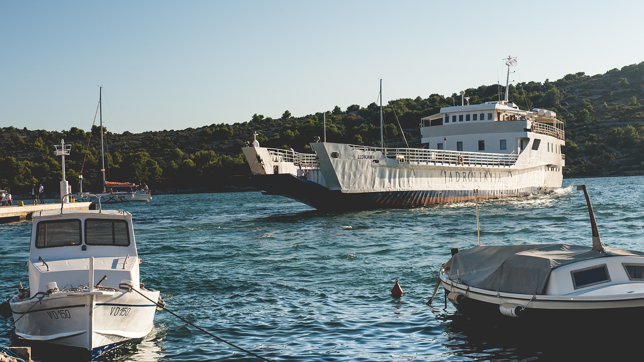
<svg viewBox="0 0 644 362"><path fill-rule="evenodd" d="M488 200L506 197L525 197L554 191L556 187L524 187L521 189L435 189L412 191L379 191L343 193L330 190L290 174L252 175L251 184L265 195L292 198L323 211L355 211L368 209L411 209L449 202Z"/></svg>

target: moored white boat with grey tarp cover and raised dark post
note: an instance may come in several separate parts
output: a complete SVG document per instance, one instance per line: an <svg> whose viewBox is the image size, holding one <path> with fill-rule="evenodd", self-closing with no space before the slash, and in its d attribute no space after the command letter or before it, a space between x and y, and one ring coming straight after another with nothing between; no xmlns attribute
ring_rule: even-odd
<svg viewBox="0 0 644 362"><path fill-rule="evenodd" d="M578 189L591 218L592 247L453 249L439 281L460 314L497 326L551 330L623 325L644 316L644 252L603 247L586 187Z"/></svg>

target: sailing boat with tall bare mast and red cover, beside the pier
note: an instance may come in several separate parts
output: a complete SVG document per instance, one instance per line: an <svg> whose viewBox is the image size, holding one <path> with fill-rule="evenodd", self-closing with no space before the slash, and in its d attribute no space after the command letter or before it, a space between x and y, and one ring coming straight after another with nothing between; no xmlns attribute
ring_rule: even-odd
<svg viewBox="0 0 644 362"><path fill-rule="evenodd" d="M90 194L82 192L82 175L79 176L79 194L82 200L97 202L97 196L100 198L101 204L114 204L117 202L128 201L149 201L152 200L152 194L147 188L146 184L134 184L132 182L114 182L107 181L105 178L105 151L103 146L103 102L102 102L103 87L99 87L99 120L100 120L100 173L103 178L102 193Z"/></svg>

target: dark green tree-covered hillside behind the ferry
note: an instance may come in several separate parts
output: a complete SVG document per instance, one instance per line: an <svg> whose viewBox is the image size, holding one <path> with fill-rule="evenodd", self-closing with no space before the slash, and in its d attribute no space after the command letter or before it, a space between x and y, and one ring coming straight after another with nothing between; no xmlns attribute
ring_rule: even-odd
<svg viewBox="0 0 644 362"><path fill-rule="evenodd" d="M470 104L498 100L498 85L465 90ZM457 90L460 91L460 90ZM564 177L644 174L644 62L604 74L571 73L557 81L523 82L509 86L509 99L520 108L556 111L565 123ZM421 147L421 117L442 106L460 104L460 95L391 100L383 105L386 146ZM106 176L111 181L146 182L153 192L221 191L243 186L233 175L249 172L241 155L256 131L261 146L308 151L314 137L329 142L379 146L379 105L352 105L346 110L279 119L254 114L248 122L211 124L201 128L116 134L106 132ZM20 120L7 120L20 124ZM178 121L177 124L180 124ZM403 137L404 133L404 137ZM66 157L66 178L77 191L100 191L100 129L89 131L29 130L15 127L0 133L0 187L26 194L33 182L59 189L60 157L54 144L72 144Z"/></svg>

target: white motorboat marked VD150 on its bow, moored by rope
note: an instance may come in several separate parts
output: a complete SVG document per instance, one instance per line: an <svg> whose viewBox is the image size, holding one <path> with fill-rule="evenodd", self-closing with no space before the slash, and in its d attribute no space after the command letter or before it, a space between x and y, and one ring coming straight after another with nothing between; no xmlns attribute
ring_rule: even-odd
<svg viewBox="0 0 644 362"><path fill-rule="evenodd" d="M164 302L140 283L132 214L100 202L96 210L62 206L33 214L29 287L2 312L19 338L84 348L95 359L149 334Z"/></svg>

